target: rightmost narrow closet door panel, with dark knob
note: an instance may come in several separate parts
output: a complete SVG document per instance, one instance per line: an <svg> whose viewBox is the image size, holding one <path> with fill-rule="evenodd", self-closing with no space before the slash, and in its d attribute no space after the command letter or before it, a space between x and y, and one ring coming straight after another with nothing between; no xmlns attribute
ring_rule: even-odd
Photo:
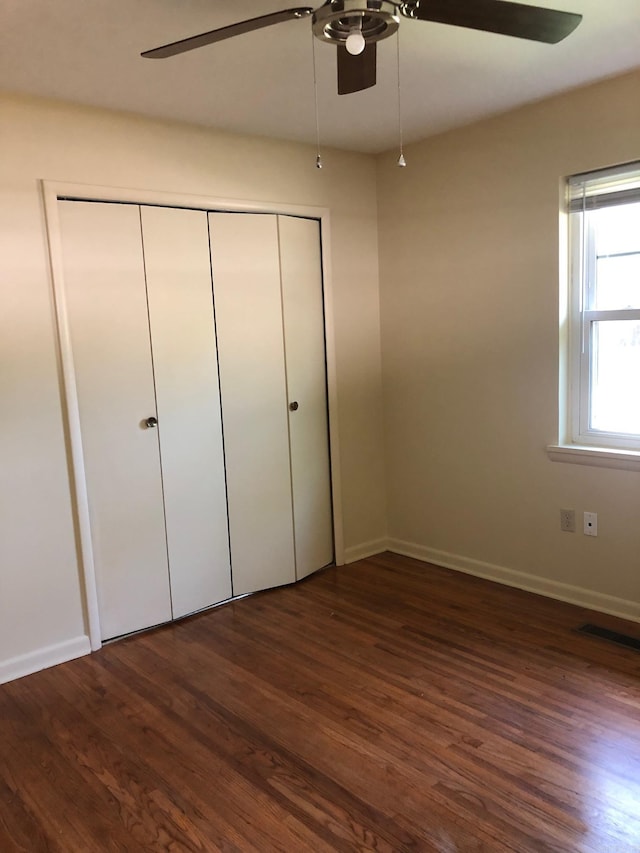
<svg viewBox="0 0 640 853"><path fill-rule="evenodd" d="M320 225L279 216L296 576L333 561Z"/></svg>

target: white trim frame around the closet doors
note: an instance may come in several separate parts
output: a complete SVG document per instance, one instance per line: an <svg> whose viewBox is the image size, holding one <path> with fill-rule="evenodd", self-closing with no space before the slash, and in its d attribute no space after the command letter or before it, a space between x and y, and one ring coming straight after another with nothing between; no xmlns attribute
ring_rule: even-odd
<svg viewBox="0 0 640 853"><path fill-rule="evenodd" d="M212 196L165 193L119 187L90 186L42 180L45 226L49 248L53 309L56 326L58 374L61 389L62 417L67 446L69 479L73 507L76 552L85 601L85 620L92 651L102 646L100 612L96 585L95 564L91 544L89 499L84 466L80 410L76 373L71 348L67 315L62 237L58 201L115 202L121 204L157 205L220 213L270 213L315 219L320 223L321 260L324 301L325 352L327 364L327 403L329 420L329 458L333 498L333 535L336 565L344 565L342 528L342 491L340 487L340 453L338 432L338 396L336 376L335 329L333 323L333 291L331 281L330 215L328 208L269 202L237 201ZM215 606L215 605L214 605Z"/></svg>

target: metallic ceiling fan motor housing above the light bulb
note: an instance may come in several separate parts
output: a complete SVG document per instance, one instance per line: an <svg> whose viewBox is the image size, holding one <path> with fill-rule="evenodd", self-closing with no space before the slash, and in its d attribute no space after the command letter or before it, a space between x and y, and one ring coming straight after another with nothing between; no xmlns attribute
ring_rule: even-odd
<svg viewBox="0 0 640 853"><path fill-rule="evenodd" d="M398 8L389 0L329 0L313 13L314 35L331 44L344 45L354 28L367 44L381 41L399 25Z"/></svg>

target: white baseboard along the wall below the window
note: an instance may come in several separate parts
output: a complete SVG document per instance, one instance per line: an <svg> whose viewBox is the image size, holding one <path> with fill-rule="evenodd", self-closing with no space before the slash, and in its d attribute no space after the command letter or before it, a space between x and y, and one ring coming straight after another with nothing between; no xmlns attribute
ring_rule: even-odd
<svg viewBox="0 0 640 853"><path fill-rule="evenodd" d="M401 539L389 539L386 543L386 550L393 551L395 554L402 554L405 557L414 557L416 560L422 560L425 563L434 563L436 566L443 566L468 575L496 581L505 584L505 586L514 586L527 592L546 595L547 598L556 598L559 601L566 601L568 604L576 604L578 607L587 607L589 610L597 610L601 613L619 616L622 619L629 619L632 622L640 622L640 602L638 601L627 601L624 598L605 595L602 592L595 592L584 587L560 583L560 581L541 578L526 572L517 572L514 569L507 569L493 563L484 563L470 557L437 551L435 548L427 548L413 542L403 542Z"/></svg>

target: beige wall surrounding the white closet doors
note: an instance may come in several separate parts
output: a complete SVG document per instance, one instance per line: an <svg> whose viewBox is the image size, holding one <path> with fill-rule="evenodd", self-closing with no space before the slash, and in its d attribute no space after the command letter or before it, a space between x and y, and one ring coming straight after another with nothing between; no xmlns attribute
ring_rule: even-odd
<svg viewBox="0 0 640 853"><path fill-rule="evenodd" d="M374 159L12 96L0 146L0 680L85 633L39 179L330 208L345 545L384 537Z"/></svg>

